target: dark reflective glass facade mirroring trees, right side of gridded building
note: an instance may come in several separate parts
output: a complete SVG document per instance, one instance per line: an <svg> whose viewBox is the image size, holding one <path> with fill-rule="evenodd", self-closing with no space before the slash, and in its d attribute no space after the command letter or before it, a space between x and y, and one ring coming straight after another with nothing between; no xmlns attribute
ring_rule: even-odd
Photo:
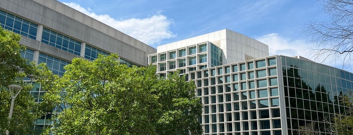
<svg viewBox="0 0 353 135"><path fill-rule="evenodd" d="M353 74L331 66L281 56L288 134L323 134L335 114L345 115ZM313 129L303 129L311 126Z"/></svg>

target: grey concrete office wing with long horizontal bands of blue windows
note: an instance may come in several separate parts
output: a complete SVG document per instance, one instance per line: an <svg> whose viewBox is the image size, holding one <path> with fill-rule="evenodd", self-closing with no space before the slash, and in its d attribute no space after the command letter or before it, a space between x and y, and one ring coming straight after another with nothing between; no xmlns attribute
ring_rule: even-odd
<svg viewBox="0 0 353 135"><path fill-rule="evenodd" d="M80 13L55 0L1 0L0 25L21 34L27 47L22 56L44 62L54 74L62 76L72 58L93 60L98 54L117 53L121 63L146 66L148 54L156 49ZM44 91L34 82L29 93L41 102ZM51 123L50 115L35 121L40 132Z"/></svg>

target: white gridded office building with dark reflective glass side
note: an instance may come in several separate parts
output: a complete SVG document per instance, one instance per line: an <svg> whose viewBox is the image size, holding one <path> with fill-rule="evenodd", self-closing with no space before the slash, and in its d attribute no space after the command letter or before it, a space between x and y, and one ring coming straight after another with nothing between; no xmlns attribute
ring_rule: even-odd
<svg viewBox="0 0 353 135"><path fill-rule="evenodd" d="M219 40L229 38L244 44L222 46ZM267 45L222 30L162 45L148 63L163 78L180 70L195 82L204 134L329 133L328 121L348 109L340 99L353 92L353 74L300 56L267 55Z"/></svg>

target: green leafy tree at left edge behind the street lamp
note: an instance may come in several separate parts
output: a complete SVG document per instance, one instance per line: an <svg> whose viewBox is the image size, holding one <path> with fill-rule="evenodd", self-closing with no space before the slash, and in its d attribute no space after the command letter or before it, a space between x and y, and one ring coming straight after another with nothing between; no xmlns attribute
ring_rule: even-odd
<svg viewBox="0 0 353 135"><path fill-rule="evenodd" d="M19 44L20 39L20 35L0 27L0 134L5 134L6 130L11 134L26 134L33 130L36 118L35 102L28 94L32 87L23 82L24 77L35 75L36 67L21 57L26 48ZM11 105L8 86L11 84L23 89L16 97L13 116L8 119Z"/></svg>

